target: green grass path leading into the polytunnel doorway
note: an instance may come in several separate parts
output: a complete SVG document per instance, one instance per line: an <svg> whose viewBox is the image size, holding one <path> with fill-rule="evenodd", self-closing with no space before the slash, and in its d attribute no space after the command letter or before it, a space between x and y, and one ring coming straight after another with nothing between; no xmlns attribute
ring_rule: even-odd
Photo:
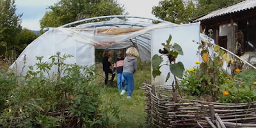
<svg viewBox="0 0 256 128"><path fill-rule="evenodd" d="M116 118L110 118L110 127L124 127L124 128L141 128L147 124L146 113L144 112L144 98L143 90L140 89L140 86L143 86L142 83L148 79L151 79L149 65L139 65L139 70L134 74L134 92L132 93L132 99L127 99L125 96L121 96L118 92L116 80L114 80L113 86L106 86L104 88L104 72L102 71L102 65L97 64L97 76L96 81L101 88L101 98L104 104L109 104L115 102L120 106L120 121ZM115 77L116 79L116 77Z"/></svg>

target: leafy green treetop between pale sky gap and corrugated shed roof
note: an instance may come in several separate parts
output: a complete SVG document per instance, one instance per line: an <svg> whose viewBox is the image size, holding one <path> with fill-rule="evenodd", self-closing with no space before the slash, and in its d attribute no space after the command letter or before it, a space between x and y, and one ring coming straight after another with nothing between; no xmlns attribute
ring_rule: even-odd
<svg viewBox="0 0 256 128"><path fill-rule="evenodd" d="M194 16L195 5L189 2L185 5L182 0L162 0L158 6L152 7L152 14L157 18L176 24L188 23Z"/></svg>

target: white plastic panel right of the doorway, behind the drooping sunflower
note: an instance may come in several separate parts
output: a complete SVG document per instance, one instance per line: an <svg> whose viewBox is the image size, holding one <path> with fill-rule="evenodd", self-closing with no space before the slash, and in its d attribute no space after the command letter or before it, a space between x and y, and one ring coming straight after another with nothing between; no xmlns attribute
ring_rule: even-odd
<svg viewBox="0 0 256 128"><path fill-rule="evenodd" d="M154 54L159 54L159 49L163 49L162 43L165 43L168 39L169 35L172 35L171 44L177 43L182 47L184 55L179 55L176 63L181 61L184 65L185 69L193 68L195 66L195 61L199 61L196 52L198 51L198 44L193 42L200 41L200 22L194 24L184 24L179 26L173 26L168 28L155 29L152 31L152 49L151 49L151 57ZM161 54L159 54L161 55ZM168 61L166 56L163 56L163 63L165 64ZM170 67L168 65L163 65L160 68L161 76L157 76L154 80L152 77L152 84L157 85L172 85L174 77L171 75L170 79L166 81L166 76L168 72L170 72Z"/></svg>

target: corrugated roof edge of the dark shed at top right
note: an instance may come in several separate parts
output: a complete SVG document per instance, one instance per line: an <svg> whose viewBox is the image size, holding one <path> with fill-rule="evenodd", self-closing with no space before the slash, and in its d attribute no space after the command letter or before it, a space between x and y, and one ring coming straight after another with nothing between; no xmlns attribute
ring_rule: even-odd
<svg viewBox="0 0 256 128"><path fill-rule="evenodd" d="M202 20L206 20L206 19L212 19L214 17L220 17L221 15L227 15L230 13L251 10L255 7L256 7L256 0L246 0L241 3L237 3L232 6L228 6L227 8L222 8L220 10L211 12L211 13L205 15L204 17L194 20L194 22L198 22L198 21L202 21Z"/></svg>

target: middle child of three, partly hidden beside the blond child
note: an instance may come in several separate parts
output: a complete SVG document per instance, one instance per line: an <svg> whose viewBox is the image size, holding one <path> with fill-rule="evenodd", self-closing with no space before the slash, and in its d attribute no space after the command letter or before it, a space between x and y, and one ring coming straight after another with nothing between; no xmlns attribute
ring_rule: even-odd
<svg viewBox="0 0 256 128"><path fill-rule="evenodd" d="M116 53L116 62L115 62L115 66L114 66L114 70L113 70L113 74L115 74L115 70L117 73L117 88L118 90L122 90L123 88L123 82L122 82L122 74L123 74L123 68L124 68L124 56L122 54L122 52L118 51ZM123 78L124 79L124 78Z"/></svg>

